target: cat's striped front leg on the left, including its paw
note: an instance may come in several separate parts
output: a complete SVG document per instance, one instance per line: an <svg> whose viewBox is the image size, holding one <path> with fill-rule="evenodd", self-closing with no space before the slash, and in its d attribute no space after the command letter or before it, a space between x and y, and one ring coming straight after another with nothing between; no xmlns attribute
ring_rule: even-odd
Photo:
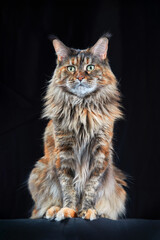
<svg viewBox="0 0 160 240"><path fill-rule="evenodd" d="M77 194L73 185L75 160L71 144L71 140L63 141L57 150L56 168L63 197L63 207L56 215L57 221L77 216Z"/></svg>

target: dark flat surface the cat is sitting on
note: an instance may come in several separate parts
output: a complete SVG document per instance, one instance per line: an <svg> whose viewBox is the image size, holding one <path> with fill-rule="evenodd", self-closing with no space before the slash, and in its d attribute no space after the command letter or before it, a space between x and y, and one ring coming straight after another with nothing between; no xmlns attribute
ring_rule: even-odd
<svg viewBox="0 0 160 240"><path fill-rule="evenodd" d="M113 221L98 219L66 219L0 221L1 240L159 240L160 221L126 219Z"/></svg>

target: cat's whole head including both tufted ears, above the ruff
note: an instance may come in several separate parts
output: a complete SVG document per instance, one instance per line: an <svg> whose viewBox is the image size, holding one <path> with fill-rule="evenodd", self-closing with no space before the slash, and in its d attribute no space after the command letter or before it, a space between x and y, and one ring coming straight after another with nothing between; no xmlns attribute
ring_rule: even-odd
<svg viewBox="0 0 160 240"><path fill-rule="evenodd" d="M80 98L109 84L112 72L107 58L108 37L108 34L103 35L94 46L85 50L69 48L54 37L52 42L57 54L55 84Z"/></svg>

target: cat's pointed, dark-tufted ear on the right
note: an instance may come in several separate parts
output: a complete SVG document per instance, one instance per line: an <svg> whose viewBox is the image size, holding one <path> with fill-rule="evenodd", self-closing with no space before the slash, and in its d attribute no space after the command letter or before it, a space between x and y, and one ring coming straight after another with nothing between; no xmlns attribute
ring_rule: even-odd
<svg viewBox="0 0 160 240"><path fill-rule="evenodd" d="M90 48L90 52L98 57L100 60L105 60L107 57L108 51L108 39L110 38L110 34L104 34L93 47Z"/></svg>

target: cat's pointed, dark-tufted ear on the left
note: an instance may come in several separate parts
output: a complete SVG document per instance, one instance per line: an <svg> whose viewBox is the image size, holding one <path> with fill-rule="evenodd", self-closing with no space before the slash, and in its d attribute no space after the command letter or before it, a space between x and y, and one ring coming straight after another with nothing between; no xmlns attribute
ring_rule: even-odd
<svg viewBox="0 0 160 240"><path fill-rule="evenodd" d="M53 43L53 47L59 61L63 61L69 56L70 49L62 41L60 41L56 36L53 35L49 36L49 39Z"/></svg>

